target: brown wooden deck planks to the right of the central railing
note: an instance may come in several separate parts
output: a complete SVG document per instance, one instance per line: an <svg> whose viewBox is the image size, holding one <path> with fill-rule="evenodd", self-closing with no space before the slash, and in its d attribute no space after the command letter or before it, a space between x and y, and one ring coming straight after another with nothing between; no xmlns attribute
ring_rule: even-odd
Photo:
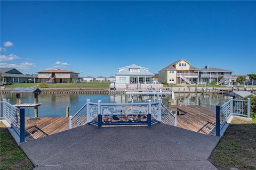
<svg viewBox="0 0 256 170"><path fill-rule="evenodd" d="M177 126L179 128L210 134L215 128L215 112L202 106L171 106L172 110L181 109L186 111L185 115L177 115Z"/></svg>

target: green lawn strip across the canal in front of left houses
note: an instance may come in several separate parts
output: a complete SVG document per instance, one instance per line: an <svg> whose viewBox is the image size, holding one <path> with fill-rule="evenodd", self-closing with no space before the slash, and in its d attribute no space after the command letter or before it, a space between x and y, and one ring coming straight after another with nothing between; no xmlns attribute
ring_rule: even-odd
<svg viewBox="0 0 256 170"><path fill-rule="evenodd" d="M18 87L36 87L39 83L14 83L12 85L5 86L6 88L18 88ZM60 83L60 84L47 84L48 88L60 88L60 89L108 89L109 82L85 82L85 83Z"/></svg>

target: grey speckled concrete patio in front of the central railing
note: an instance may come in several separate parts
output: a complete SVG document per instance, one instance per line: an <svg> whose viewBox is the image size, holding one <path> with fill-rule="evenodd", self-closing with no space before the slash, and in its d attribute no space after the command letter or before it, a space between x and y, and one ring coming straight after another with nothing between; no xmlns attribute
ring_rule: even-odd
<svg viewBox="0 0 256 170"><path fill-rule="evenodd" d="M92 125L23 143L35 169L216 169L207 159L218 137L166 124Z"/></svg>

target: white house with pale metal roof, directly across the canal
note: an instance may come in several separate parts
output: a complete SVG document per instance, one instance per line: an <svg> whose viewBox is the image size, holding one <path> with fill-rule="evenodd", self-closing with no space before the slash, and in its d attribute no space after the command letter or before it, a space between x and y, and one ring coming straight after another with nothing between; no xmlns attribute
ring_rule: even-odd
<svg viewBox="0 0 256 170"><path fill-rule="evenodd" d="M152 83L153 76L154 74L151 73L149 69L132 64L118 69L118 72L116 73L116 83Z"/></svg>

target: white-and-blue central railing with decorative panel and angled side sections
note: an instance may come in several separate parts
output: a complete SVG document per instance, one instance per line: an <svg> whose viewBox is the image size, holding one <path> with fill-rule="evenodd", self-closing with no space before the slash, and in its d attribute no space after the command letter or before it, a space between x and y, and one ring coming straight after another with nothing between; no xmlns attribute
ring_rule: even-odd
<svg viewBox="0 0 256 170"><path fill-rule="evenodd" d="M86 100L86 104L79 109L74 116L69 116L69 129L76 128L84 124L95 124L101 128L102 125L131 125L131 124L151 124L161 122L162 117L166 124L177 125L177 117L169 111L162 100L151 103L91 103Z"/></svg>

